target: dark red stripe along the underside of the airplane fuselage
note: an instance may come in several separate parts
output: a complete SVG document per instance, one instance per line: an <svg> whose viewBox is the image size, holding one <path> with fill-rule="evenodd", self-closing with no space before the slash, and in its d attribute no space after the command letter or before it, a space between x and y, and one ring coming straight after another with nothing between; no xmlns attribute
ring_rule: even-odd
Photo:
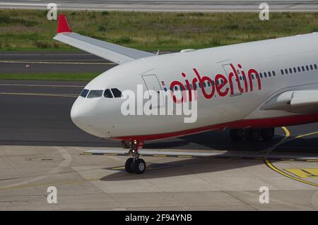
<svg viewBox="0 0 318 225"><path fill-rule="evenodd" d="M153 135L136 135L113 137L114 140L139 140L141 142L146 140L160 140L167 138L175 138L194 133L200 133L208 130L219 130L223 128L271 128L279 126L294 126L305 123L318 122L318 114L302 114L297 116L284 116L275 118L253 118L243 119L241 121L232 121L228 123L220 123L211 126L204 126L201 128L194 128L189 130L180 130L172 133L158 133Z"/></svg>

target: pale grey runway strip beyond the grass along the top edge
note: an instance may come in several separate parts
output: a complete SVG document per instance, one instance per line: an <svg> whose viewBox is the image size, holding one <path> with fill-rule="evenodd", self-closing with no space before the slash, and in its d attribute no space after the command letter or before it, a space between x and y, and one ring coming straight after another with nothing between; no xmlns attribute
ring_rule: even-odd
<svg viewBox="0 0 318 225"><path fill-rule="evenodd" d="M40 8L45 9L51 1L0 1L0 8ZM88 11L259 11L259 0L93 0L54 1L60 10ZM266 1L271 11L317 11L318 1Z"/></svg>

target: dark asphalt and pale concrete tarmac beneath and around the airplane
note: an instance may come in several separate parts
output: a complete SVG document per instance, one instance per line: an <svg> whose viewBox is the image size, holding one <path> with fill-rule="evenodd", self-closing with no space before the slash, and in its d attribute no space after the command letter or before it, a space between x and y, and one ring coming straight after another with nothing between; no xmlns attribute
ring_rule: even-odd
<svg viewBox="0 0 318 225"><path fill-rule="evenodd" d="M25 61L37 73L61 67L81 73L76 62L108 63L81 53L0 54L4 60L18 61L0 63L8 73L29 73ZM36 63L49 60L73 64ZM98 74L114 64L85 66ZM88 135L71 122L71 105L84 85L0 80L0 210L318 209L318 123L276 128L269 142L233 143L228 130L147 142L145 150L217 156L143 157L145 174L126 174L126 157L81 154L120 150L119 142ZM57 204L47 203L49 186L58 190ZM269 203L259 202L263 186Z"/></svg>

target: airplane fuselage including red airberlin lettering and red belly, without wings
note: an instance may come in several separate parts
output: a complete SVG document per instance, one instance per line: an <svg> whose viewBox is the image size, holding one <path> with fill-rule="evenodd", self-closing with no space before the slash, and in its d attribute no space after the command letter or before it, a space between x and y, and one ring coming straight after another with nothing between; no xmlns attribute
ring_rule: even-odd
<svg viewBox="0 0 318 225"><path fill-rule="evenodd" d="M136 93L153 86L160 92L197 93L197 118L184 116L125 116L125 99L78 97L71 110L74 123L86 132L117 140L158 140L223 128L266 128L318 121L312 113L263 110L272 97L288 90L318 87L318 33L233 44L137 59L102 73L86 90L117 88ZM157 83L155 81L157 80ZM173 93L173 92L172 92ZM143 104L147 99L143 99ZM140 102L136 100L136 106ZM152 107L165 108L165 102Z"/></svg>

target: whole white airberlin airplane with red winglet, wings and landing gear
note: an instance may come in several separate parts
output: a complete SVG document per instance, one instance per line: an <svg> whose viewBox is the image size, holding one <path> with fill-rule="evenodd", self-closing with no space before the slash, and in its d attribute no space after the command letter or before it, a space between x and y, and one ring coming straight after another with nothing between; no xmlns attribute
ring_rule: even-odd
<svg viewBox="0 0 318 225"><path fill-rule="evenodd" d="M316 32L158 55L78 35L60 15L54 39L119 64L86 85L71 119L87 133L121 140L132 156L125 164L129 173L145 171L139 150L148 140L225 128L232 140L270 140L275 127L318 121ZM184 123L184 116L177 115L123 115L122 92L136 93L137 85L159 95L196 90L196 121ZM151 103L153 109L166 107L165 101Z"/></svg>

